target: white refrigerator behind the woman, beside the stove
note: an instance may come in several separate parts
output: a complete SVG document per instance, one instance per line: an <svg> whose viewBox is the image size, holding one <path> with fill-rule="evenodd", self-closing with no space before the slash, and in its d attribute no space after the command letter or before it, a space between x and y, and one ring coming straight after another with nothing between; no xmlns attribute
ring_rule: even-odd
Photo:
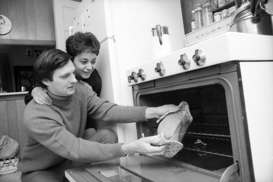
<svg viewBox="0 0 273 182"><path fill-rule="evenodd" d="M86 17L87 10L90 12L89 19ZM152 59L151 28L169 26L173 51L185 47L179 0L83 0L75 11L75 17L84 20L82 31L92 32L98 41L115 37L115 41L107 39L102 43L97 70L102 77L100 96L117 104L134 105L125 70ZM118 134L119 142L137 139L134 123L120 126L118 129L123 130L124 135Z"/></svg>

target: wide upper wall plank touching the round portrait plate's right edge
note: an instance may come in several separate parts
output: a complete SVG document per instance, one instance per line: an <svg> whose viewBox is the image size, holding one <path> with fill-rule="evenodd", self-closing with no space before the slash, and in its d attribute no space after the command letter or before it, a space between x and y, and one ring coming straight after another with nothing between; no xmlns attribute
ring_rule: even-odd
<svg viewBox="0 0 273 182"><path fill-rule="evenodd" d="M7 1L9 19L12 24L11 39L28 39L25 1Z"/></svg>

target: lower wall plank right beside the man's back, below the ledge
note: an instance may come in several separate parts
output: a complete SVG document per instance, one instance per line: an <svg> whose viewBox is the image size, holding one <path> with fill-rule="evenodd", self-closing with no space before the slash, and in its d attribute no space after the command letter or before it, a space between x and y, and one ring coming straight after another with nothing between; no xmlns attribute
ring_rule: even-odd
<svg viewBox="0 0 273 182"><path fill-rule="evenodd" d="M26 104L24 99L16 100L16 108L17 108L17 124L18 124L18 131L19 131L19 145L20 145L20 154L22 154L23 147L26 143L26 132L23 126L23 113ZM20 154L17 154L20 156Z"/></svg>

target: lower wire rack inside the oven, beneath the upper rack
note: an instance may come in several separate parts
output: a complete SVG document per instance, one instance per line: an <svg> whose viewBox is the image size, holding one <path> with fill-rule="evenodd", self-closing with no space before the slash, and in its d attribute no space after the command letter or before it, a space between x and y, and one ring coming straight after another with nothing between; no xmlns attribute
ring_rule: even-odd
<svg viewBox="0 0 273 182"><path fill-rule="evenodd" d="M216 138L186 134L182 143L184 149L233 157L231 139L228 137Z"/></svg>

